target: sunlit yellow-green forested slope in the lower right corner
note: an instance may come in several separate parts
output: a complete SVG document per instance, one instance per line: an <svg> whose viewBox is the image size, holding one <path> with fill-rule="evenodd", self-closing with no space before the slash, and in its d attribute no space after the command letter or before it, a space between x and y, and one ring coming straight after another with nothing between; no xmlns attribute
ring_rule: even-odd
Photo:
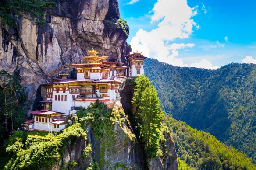
<svg viewBox="0 0 256 170"><path fill-rule="evenodd" d="M255 170L252 160L232 146L225 146L209 133L198 131L165 115L164 124L175 140L179 169Z"/></svg>

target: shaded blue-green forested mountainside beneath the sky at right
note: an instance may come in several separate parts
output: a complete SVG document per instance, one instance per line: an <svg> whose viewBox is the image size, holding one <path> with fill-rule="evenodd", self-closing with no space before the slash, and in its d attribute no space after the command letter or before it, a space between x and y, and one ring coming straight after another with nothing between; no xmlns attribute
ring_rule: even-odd
<svg viewBox="0 0 256 170"><path fill-rule="evenodd" d="M256 163L256 65L232 63L207 70L146 59L145 74L165 112L245 152Z"/></svg>

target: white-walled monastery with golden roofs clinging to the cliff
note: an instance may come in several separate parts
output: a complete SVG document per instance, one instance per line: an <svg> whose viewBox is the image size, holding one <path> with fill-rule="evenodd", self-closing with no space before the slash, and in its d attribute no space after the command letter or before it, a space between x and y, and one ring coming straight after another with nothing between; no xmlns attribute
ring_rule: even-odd
<svg viewBox="0 0 256 170"><path fill-rule="evenodd" d="M144 73L146 57L140 52L126 56L128 66L107 61L109 56L98 56L99 52L93 48L87 53L89 56L82 57L83 63L69 65L76 68L76 80L67 79L69 74L63 72L60 78L53 78L52 83L42 85L44 109L31 111L34 119L25 121L24 129L61 131L69 124L68 117L74 116L79 107L86 109L96 101L114 104L120 99L120 87L125 79Z"/></svg>

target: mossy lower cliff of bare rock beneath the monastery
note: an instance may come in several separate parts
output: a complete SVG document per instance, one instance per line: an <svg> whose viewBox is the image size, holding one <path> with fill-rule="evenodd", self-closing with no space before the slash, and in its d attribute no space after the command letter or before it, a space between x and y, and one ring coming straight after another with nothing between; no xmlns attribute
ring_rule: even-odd
<svg viewBox="0 0 256 170"><path fill-rule="evenodd" d="M118 102L112 110L112 116L113 113L121 117L117 118L114 124L112 122L112 125L104 128L100 136L94 132L91 125L87 124L87 139L79 137L68 142L69 145L64 148L62 159L53 166L52 170L67 168L71 160L78 163L73 170L86 169L95 162L100 169L104 170L178 170L177 155L170 132L165 133L166 142L161 144L164 155L146 163L143 150L131 131L128 121L121 121L122 118L124 120L124 111ZM92 152L83 158L84 148L88 143L92 146Z"/></svg>

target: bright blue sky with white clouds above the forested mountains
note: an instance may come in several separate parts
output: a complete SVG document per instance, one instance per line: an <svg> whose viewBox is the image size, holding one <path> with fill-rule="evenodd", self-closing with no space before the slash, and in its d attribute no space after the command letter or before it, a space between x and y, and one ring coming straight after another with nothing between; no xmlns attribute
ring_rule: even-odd
<svg viewBox="0 0 256 170"><path fill-rule="evenodd" d="M255 0L119 0L127 42L173 66L256 64Z"/></svg>

